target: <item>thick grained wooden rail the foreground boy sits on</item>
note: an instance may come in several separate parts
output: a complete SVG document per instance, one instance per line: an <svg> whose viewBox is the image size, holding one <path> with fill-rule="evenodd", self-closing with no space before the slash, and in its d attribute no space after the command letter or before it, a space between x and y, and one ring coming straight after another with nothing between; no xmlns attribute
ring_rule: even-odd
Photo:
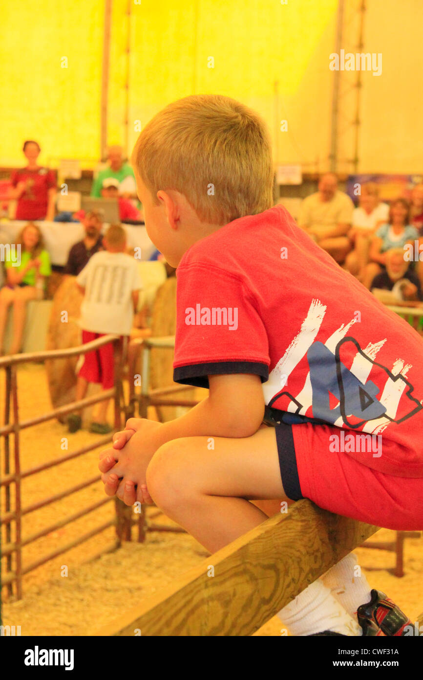
<svg viewBox="0 0 423 680"><path fill-rule="evenodd" d="M377 530L299 500L93 634L251 635Z"/></svg>

